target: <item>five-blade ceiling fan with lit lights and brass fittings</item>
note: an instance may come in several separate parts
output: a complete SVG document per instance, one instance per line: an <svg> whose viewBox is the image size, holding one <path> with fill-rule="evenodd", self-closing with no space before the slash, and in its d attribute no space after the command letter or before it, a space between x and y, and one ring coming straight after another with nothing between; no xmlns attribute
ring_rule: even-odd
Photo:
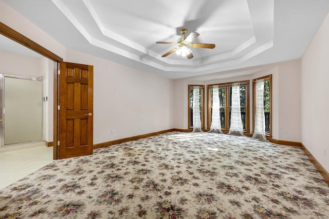
<svg viewBox="0 0 329 219"><path fill-rule="evenodd" d="M171 44L176 45L177 47L170 50L166 54L163 54L162 57L166 57L167 55L170 55L171 53L175 52L183 57L187 57L188 59L193 58L191 48L205 48L205 49L213 49L215 48L215 44L199 44L199 43L191 43L194 41L196 37L198 37L200 34L197 32L191 32L188 37L185 38L185 34L187 33L187 29L183 28L180 29L180 33L182 34L182 37L177 39L177 43L169 43L169 42L156 42L157 44Z"/></svg>

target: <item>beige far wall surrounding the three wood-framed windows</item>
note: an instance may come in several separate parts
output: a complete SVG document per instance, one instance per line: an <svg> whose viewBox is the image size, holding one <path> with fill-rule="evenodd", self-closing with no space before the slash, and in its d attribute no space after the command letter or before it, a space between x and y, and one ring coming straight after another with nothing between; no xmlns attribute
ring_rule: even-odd
<svg viewBox="0 0 329 219"><path fill-rule="evenodd" d="M205 75L183 78L175 81L175 127L188 128L188 85L209 85L250 80L250 112L252 112L252 79L272 74L272 135L277 140L301 141L300 129L300 61L276 63L227 72L218 72L217 77L225 74L243 76L225 77L200 81ZM211 74L212 78L216 73ZM178 104L177 104L178 103ZM205 102L206 104L206 102ZM252 121L252 115L250 116ZM250 124L251 125L251 124ZM252 130L252 126L250 126ZM283 134L287 130L287 134Z"/></svg>

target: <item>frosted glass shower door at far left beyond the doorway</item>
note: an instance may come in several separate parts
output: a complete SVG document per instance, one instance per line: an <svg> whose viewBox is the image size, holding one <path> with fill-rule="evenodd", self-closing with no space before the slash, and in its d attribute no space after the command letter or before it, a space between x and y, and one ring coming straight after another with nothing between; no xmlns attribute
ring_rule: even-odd
<svg viewBox="0 0 329 219"><path fill-rule="evenodd" d="M42 141L42 81L4 77L3 145Z"/></svg>

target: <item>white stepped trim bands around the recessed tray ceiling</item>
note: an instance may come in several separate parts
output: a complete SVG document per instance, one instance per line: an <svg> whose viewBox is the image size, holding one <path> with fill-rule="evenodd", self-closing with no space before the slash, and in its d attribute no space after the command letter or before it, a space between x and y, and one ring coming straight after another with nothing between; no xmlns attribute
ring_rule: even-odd
<svg viewBox="0 0 329 219"><path fill-rule="evenodd" d="M204 59L195 59L193 61L162 58L159 54L153 52L152 50L145 48L135 42L132 42L129 39L111 30L106 29L102 24L101 19L99 18L92 3L89 0L83 0L84 6L86 7L87 11L89 12L90 16L92 17L93 21L95 22L97 28L100 30L102 35L108 37L112 41L118 42L119 44L133 49L133 51L136 51L138 53L135 54L134 52L127 51L115 45L111 45L110 43L107 43L105 41L102 41L101 39L96 38L97 36L92 36L92 34L90 34L88 30L83 26L83 24L79 22L78 18L70 11L70 9L65 5L62 0L52 0L52 2L67 17L71 24L78 29L78 31L85 37L85 39L90 45L114 52L123 57L130 58L133 61L149 65L162 71L202 72L216 70L221 67L226 67L229 65L244 62L247 59L273 46L273 44L269 43L265 43L266 46L264 46L265 44L262 43L262 41L268 41L268 39L262 39L262 34L260 34L260 31L258 31L261 29L260 27L257 27L257 25L259 25L260 17L258 13L260 13L260 9L255 9L255 7L249 7L249 14L253 25L254 35L232 51L223 54L218 54L212 57L207 57ZM249 2L249 4L251 3ZM271 23L270 26L273 26L273 3L269 5L271 6L269 7L271 13L267 14L269 14L268 16L271 17L268 17L265 20L266 22ZM270 31L268 35L270 35L272 40L273 31ZM140 55L140 53L142 54L142 56Z"/></svg>

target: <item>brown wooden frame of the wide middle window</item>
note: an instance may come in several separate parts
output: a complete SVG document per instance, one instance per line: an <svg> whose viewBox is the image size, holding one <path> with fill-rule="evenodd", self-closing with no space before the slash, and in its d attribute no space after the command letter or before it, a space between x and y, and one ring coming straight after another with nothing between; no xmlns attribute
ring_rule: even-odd
<svg viewBox="0 0 329 219"><path fill-rule="evenodd" d="M247 81L238 81L240 83L240 86L246 86L246 106L245 106L245 109L246 109L246 129L244 129L243 131L244 132L248 132L249 133L249 130L250 130L250 115L249 115L249 83L250 81L247 80ZM234 83L238 83L238 82L229 82L229 83L220 83L220 84L211 84L211 85L207 85L207 129L210 129L210 126L211 126L211 92L210 92L210 89L212 89L212 87L214 85L218 85L219 88L225 88L225 119L224 119L224 127L222 127L222 131L224 133L228 133L229 130L230 130L230 125L229 125L229 121L230 121L230 118L229 118L229 108L230 108L230 98L229 98L229 95L230 95L230 92L229 92L229 88L233 86Z"/></svg>

